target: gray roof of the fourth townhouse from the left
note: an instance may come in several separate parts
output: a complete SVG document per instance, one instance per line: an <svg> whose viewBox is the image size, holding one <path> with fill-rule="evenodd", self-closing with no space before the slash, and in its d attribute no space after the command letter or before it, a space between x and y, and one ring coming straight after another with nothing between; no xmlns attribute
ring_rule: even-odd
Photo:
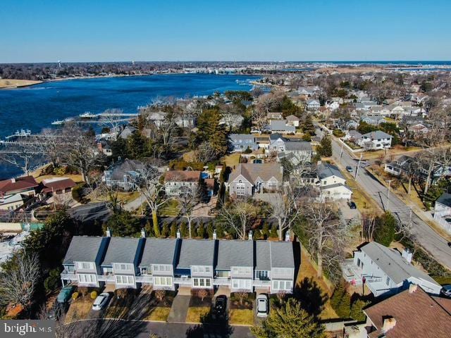
<svg viewBox="0 0 451 338"><path fill-rule="evenodd" d="M215 241L209 239L183 239L180 246L178 269L191 265L213 265Z"/></svg>

